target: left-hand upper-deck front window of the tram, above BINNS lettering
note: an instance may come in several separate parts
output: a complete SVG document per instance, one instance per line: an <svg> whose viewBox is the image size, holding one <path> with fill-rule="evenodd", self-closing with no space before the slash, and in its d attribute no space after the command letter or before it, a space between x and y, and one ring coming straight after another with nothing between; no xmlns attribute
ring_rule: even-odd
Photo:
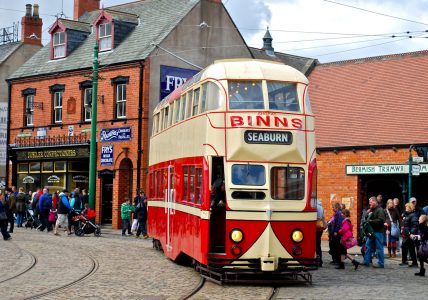
<svg viewBox="0 0 428 300"><path fill-rule="evenodd" d="M263 109L261 81L229 81L230 109Z"/></svg>

